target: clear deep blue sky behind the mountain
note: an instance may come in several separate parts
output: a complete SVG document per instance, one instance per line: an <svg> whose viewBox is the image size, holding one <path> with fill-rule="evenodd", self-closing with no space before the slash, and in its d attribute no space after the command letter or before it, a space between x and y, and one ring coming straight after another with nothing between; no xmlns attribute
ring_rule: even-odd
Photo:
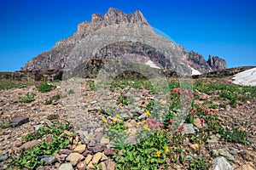
<svg viewBox="0 0 256 170"><path fill-rule="evenodd" d="M228 67L256 65L255 0L0 0L0 71L18 71L91 14L139 9L187 51L218 55Z"/></svg>

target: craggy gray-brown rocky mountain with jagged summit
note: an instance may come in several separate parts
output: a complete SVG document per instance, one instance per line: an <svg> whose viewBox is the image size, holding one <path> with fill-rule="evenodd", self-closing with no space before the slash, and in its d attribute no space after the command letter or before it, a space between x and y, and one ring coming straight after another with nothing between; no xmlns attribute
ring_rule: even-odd
<svg viewBox="0 0 256 170"><path fill-rule="evenodd" d="M189 74L226 69L224 59L186 52L183 46L160 37L137 10L125 14L116 8L92 14L91 21L79 24L73 36L55 43L48 52L38 54L20 71L72 70L90 59L122 59Z"/></svg>

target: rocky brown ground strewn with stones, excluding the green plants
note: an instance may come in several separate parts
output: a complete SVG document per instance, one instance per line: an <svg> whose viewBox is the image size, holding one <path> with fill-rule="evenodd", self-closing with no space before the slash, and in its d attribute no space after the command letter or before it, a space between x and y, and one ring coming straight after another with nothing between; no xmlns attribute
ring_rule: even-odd
<svg viewBox="0 0 256 170"><path fill-rule="evenodd" d="M37 131L38 127L50 127L52 123L55 123L50 116L57 115L60 120L72 122L75 130L74 136L70 139L71 143L54 156L41 157L44 166L38 169L96 169L100 167L114 169L116 162L113 156L121 153L113 146L111 139L104 136L108 133L105 128L106 123L120 119L124 121L124 126L127 127L125 131L129 133L129 137L134 136L148 116L146 112L148 101L156 97L148 89L115 88L99 98L99 92L93 89L93 81L82 79L65 84L55 82L56 88L46 93L39 92L35 86L1 90L0 168L15 168L8 167L5 160L19 153L22 148L26 150L38 144L37 140L24 143L22 136ZM194 80L196 81L202 84L231 84L232 79L231 77L201 78ZM19 97L26 96L27 93L36 94L35 100L30 103L20 102ZM199 119L195 119L193 124L183 124L185 134L182 145L187 160L201 154L210 163L205 168L255 169L256 99L239 100L236 105L230 105L226 99L219 99L218 94L206 94L200 90L196 93L198 98L195 98L195 104L208 106L209 110L214 105L214 114L222 126L227 129L235 126L247 132L247 144L228 142L220 134L209 132L209 138L200 144L201 150L198 153L195 150L198 149L199 143L192 143L189 138L195 133L195 129L201 131L204 124ZM48 100L58 94L61 95L61 99L53 99L49 105L46 105ZM117 104L120 94L128 97L134 95L132 105L124 105L124 100ZM168 105L169 101L159 99L159 102L163 107ZM104 114L102 110L106 108L114 114L112 116ZM16 123L15 119L20 124L7 127L9 121ZM71 130L64 133L69 134ZM129 137L126 141L130 144L136 143L135 139ZM189 163L189 161L187 163L168 161L168 169L189 169Z"/></svg>

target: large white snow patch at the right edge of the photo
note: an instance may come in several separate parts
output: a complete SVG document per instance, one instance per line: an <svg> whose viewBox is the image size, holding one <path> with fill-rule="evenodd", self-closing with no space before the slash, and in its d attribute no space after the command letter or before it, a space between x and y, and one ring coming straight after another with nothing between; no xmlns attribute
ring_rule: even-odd
<svg viewBox="0 0 256 170"><path fill-rule="evenodd" d="M256 86L256 68L237 73L233 83L244 86Z"/></svg>

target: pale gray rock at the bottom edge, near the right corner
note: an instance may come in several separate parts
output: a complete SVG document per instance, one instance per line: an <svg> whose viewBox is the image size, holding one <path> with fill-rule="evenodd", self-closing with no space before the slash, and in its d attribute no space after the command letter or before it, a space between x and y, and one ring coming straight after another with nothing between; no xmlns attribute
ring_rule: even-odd
<svg viewBox="0 0 256 170"><path fill-rule="evenodd" d="M234 168L230 165L223 156L219 156L212 161L212 170L233 170Z"/></svg>

